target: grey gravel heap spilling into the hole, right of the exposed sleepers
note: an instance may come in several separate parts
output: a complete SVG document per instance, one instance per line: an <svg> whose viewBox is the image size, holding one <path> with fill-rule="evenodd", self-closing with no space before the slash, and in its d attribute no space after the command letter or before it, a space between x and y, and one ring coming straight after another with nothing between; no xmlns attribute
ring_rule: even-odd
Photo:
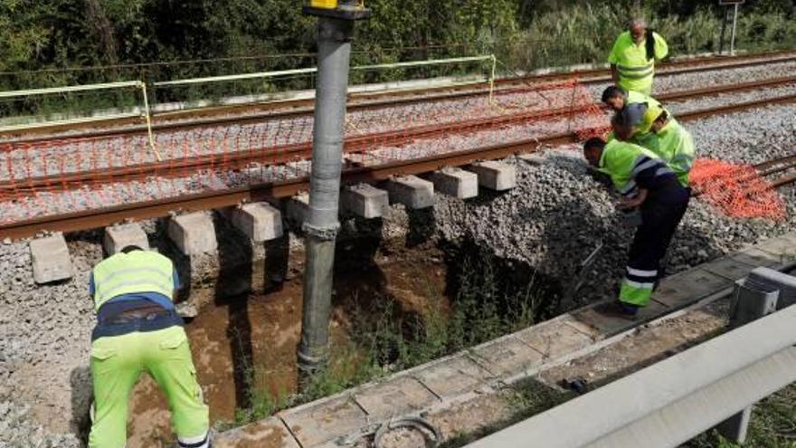
<svg viewBox="0 0 796 448"><path fill-rule="evenodd" d="M441 236L472 239L559 282L571 279L602 241L606 250L594 268L611 278L619 275L631 230L622 224L609 190L589 175L579 150L549 150L539 166L507 161L516 167L516 188L469 202L441 198L435 210ZM589 277L584 291L611 291L611 281Z"/></svg>

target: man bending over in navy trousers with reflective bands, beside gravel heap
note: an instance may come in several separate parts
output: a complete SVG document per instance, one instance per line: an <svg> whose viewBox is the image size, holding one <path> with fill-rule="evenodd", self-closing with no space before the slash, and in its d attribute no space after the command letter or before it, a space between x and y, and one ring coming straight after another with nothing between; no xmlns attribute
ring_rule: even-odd
<svg viewBox="0 0 796 448"><path fill-rule="evenodd" d="M583 156L592 167L611 176L622 195L622 208L640 207L641 224L636 229L619 300L605 312L632 318L652 297L663 275L660 261L686 213L690 195L677 176L646 148L602 138L583 146Z"/></svg>

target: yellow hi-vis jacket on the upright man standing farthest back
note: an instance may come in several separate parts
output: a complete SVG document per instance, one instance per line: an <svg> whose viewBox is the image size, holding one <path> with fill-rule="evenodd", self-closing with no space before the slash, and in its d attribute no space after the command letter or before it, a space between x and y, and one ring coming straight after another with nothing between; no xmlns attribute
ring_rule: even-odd
<svg viewBox="0 0 796 448"><path fill-rule="evenodd" d="M619 71L619 86L626 91L640 91L649 95L652 92L652 78L655 75L655 60L668 54L668 44L659 33L652 33L655 39L655 57L647 59L647 42L633 42L630 31L621 33L613 44L608 62L616 65Z"/></svg>

